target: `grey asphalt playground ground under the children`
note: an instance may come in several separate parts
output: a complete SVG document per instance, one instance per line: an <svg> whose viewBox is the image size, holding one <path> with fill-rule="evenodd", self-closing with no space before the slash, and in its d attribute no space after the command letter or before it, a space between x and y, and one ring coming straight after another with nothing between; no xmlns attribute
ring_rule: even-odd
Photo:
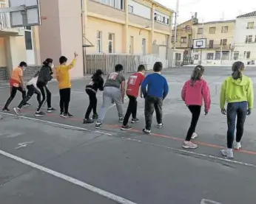
<svg viewBox="0 0 256 204"><path fill-rule="evenodd" d="M115 106L110 107L104 127L82 124L89 99L84 92L90 76L73 80L70 113L62 119L56 113L36 118L36 96L22 116L3 113L0 122L0 203L61 204L255 204L256 134L255 109L248 116L243 149L232 160L223 158L226 146L226 117L219 108L220 85L229 67L206 67L212 108L201 114L196 132L197 150L183 150L181 144L190 123L190 113L181 100L181 88L192 68L164 71L169 95L164 101L164 127L154 119L152 134L144 128L144 99L138 99L138 119L130 131L120 130ZM246 74L255 82L256 68ZM129 75L126 77L128 78ZM53 107L58 108L58 86L49 84ZM0 84L3 107L10 88ZM21 100L17 93L10 108ZM98 108L102 92L98 93ZM127 108L124 102L124 112Z"/></svg>

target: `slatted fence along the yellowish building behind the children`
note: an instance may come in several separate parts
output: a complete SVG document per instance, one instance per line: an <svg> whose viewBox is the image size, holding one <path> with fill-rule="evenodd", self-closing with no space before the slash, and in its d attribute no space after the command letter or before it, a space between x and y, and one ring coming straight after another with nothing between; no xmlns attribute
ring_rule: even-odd
<svg viewBox="0 0 256 204"><path fill-rule="evenodd" d="M137 71L139 64L151 65L158 61L156 54L131 55L131 54L87 54L87 74L93 74L100 68L104 74L115 71L115 65L124 66L124 73Z"/></svg>

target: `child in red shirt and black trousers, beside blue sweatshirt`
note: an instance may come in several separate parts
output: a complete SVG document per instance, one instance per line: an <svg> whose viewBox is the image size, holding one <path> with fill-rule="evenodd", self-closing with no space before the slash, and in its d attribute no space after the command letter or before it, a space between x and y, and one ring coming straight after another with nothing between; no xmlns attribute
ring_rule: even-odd
<svg viewBox="0 0 256 204"><path fill-rule="evenodd" d="M140 89L141 83L145 79L145 66L140 65L138 66L138 72L132 74L129 77L129 80L127 82L127 96L129 98L129 104L127 108L127 113L124 116L124 122L123 126L121 127L121 130L130 130L132 127L128 125L129 116L132 115L132 123L138 122L138 119L136 117L137 114L137 97L138 97L138 91ZM141 97L142 92L141 92Z"/></svg>

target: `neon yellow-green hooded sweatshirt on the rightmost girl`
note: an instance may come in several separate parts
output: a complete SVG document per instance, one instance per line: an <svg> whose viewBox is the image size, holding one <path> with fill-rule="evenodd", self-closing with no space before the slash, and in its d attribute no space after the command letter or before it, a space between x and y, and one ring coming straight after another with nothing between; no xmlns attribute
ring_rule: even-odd
<svg viewBox="0 0 256 204"><path fill-rule="evenodd" d="M248 102L248 108L252 109L254 93L251 78L246 75L238 80L227 77L221 86L220 108L225 108L226 102Z"/></svg>

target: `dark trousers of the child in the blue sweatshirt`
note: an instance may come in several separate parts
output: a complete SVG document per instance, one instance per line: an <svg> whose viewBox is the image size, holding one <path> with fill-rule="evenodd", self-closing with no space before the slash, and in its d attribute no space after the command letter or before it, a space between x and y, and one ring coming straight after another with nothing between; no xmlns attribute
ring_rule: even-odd
<svg viewBox="0 0 256 204"><path fill-rule="evenodd" d="M155 96L146 96L145 99L145 122L146 130L151 130L152 116L155 109L156 120L158 124L162 123L163 112L162 112L163 99Z"/></svg>

